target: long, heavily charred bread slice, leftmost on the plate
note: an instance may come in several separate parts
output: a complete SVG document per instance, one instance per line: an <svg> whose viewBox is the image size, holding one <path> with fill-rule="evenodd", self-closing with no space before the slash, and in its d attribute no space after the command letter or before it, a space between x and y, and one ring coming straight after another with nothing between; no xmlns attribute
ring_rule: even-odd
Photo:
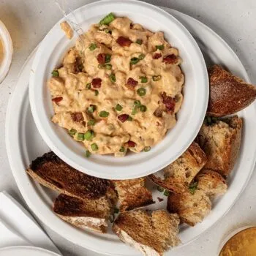
<svg viewBox="0 0 256 256"><path fill-rule="evenodd" d="M91 200L108 197L112 203L116 202L116 192L111 181L81 173L53 152L35 159L27 173L43 186L71 197Z"/></svg>

